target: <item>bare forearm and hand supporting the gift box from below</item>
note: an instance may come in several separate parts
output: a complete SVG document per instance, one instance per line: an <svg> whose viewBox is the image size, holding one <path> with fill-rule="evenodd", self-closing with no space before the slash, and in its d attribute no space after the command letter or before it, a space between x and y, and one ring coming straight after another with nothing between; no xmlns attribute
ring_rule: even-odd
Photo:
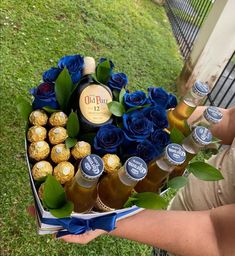
<svg viewBox="0 0 235 256"><path fill-rule="evenodd" d="M153 245L179 255L235 255L235 204L210 211L144 210L117 222L110 235ZM95 230L69 235L66 242L88 243Z"/></svg>

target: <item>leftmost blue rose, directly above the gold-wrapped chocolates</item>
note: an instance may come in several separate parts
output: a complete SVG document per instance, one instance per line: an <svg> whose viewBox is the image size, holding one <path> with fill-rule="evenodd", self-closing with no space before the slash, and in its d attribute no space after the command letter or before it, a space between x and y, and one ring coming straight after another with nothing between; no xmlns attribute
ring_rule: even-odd
<svg viewBox="0 0 235 256"><path fill-rule="evenodd" d="M30 92L34 96L33 109L43 107L59 108L59 104L56 101L54 84L42 83L38 87L33 88Z"/></svg>

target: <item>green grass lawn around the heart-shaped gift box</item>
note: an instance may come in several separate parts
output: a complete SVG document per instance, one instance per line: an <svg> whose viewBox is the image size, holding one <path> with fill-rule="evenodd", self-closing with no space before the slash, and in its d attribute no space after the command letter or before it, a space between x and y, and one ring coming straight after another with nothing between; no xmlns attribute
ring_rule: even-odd
<svg viewBox="0 0 235 256"><path fill-rule="evenodd" d="M38 236L16 97L30 98L44 70L66 54L111 58L130 89L173 85L182 68L164 9L147 0L1 1L1 255L149 255L135 242L101 237L88 246Z"/></svg>

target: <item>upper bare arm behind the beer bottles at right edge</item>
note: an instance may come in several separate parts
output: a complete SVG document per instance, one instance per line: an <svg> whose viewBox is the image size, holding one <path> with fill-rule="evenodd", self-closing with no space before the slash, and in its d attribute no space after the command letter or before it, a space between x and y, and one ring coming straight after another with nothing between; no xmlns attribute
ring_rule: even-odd
<svg viewBox="0 0 235 256"><path fill-rule="evenodd" d="M190 125L194 120L197 120L203 113L206 107L197 107L193 114L187 120ZM235 137L235 106L229 109L222 109L223 119L220 123L211 127L212 134L221 139L223 144L232 144Z"/></svg>

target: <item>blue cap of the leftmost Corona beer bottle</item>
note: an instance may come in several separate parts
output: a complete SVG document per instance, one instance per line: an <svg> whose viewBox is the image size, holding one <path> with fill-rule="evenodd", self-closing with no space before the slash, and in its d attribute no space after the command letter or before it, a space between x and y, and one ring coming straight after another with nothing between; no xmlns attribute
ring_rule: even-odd
<svg viewBox="0 0 235 256"><path fill-rule="evenodd" d="M80 170L85 178L97 179L104 171L103 160L95 154L88 155L81 160Z"/></svg>

